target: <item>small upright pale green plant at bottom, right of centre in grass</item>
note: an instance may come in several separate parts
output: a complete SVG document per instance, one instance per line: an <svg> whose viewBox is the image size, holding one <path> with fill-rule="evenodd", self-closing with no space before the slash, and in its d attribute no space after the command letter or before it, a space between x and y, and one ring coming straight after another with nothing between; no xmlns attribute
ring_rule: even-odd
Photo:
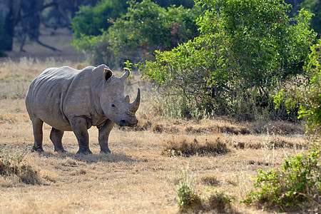
<svg viewBox="0 0 321 214"><path fill-rule="evenodd" d="M201 196L195 191L195 179L188 175L188 168L181 168L179 180L176 186L178 203L180 210L201 208Z"/></svg>

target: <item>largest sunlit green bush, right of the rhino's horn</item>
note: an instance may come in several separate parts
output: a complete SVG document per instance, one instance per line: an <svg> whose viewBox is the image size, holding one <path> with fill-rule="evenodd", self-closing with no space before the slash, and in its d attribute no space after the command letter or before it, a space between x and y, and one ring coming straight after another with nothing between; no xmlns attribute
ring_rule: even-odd
<svg viewBox="0 0 321 214"><path fill-rule="evenodd" d="M180 100L181 112L193 109L253 118L273 109L272 93L304 74L315 34L311 14L287 16L276 0L196 1L209 9L198 19L200 36L172 51L158 51L143 77L156 81L167 96ZM179 97L179 98L178 98Z"/></svg>

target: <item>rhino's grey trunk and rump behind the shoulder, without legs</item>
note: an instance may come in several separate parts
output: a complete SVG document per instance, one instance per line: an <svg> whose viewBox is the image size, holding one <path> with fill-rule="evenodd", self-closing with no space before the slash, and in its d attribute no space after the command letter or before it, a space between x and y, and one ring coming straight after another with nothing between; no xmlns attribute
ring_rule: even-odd
<svg viewBox="0 0 321 214"><path fill-rule="evenodd" d="M81 101L88 100L84 97L90 96L86 76L88 77L92 70L93 67L79 71L63 66L48 68L41 73L31 82L26 96L31 120L36 116L54 128L71 131L68 121L70 114L88 113Z"/></svg>

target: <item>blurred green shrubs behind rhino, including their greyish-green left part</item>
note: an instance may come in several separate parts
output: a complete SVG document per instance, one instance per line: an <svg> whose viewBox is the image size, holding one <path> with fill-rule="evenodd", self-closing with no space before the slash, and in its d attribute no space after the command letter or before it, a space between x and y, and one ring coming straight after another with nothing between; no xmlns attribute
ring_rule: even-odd
<svg viewBox="0 0 321 214"><path fill-rule="evenodd" d="M137 63L153 60L155 50L169 50L198 36L195 19L202 11L199 6L192 9L169 6L165 9L151 0L128 3L126 15L111 21L113 25L108 30L106 27L96 28L99 32L91 36L80 32L73 46L93 55L94 63L106 63L106 60L112 63L115 59L117 63L128 59Z"/></svg>

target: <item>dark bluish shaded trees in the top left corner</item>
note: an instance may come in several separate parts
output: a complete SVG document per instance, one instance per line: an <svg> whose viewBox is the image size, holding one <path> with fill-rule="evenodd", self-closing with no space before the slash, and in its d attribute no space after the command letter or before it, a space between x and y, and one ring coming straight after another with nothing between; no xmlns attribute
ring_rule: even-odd
<svg viewBox="0 0 321 214"><path fill-rule="evenodd" d="M80 4L93 4L97 0L2 0L0 1L0 50L11 51L14 36L20 36L22 39L21 51L24 51L24 41L27 36L29 39L45 46L46 48L56 51L54 47L47 46L39 41L39 26L42 21L46 26L57 29L58 27L66 27L70 25L70 20L75 15ZM55 8L57 13L48 13L46 19L43 17L43 11ZM52 11L52 10L51 10ZM59 21L63 24L49 24L52 15L59 17ZM45 21L46 20L46 21ZM15 35L15 31L18 35Z"/></svg>

